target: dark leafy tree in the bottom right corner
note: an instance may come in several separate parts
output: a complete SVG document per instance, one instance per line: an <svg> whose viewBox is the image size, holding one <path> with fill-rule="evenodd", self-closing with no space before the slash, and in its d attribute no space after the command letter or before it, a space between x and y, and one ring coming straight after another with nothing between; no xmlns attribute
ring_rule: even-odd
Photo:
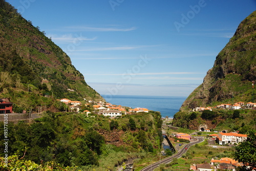
<svg viewBox="0 0 256 171"><path fill-rule="evenodd" d="M250 131L245 141L236 146L234 159L243 163L242 170L253 170L256 168L256 134Z"/></svg>

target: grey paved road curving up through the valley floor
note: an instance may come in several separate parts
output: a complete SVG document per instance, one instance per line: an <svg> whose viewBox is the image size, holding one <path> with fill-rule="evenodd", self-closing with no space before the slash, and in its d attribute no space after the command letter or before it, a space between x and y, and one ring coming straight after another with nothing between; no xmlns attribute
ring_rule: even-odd
<svg viewBox="0 0 256 171"><path fill-rule="evenodd" d="M204 141L204 138L203 137L195 137L197 139L197 141L194 141L194 142L190 142L188 144L185 144L181 149L180 151L178 151L178 153L172 155L172 156L169 156L167 158L164 158L160 161L157 161L151 165L148 165L144 168L142 168L140 171L152 171L154 170L155 168L159 167L160 164L165 164L165 163L169 163L171 161L173 161L174 158L180 158L182 156L183 153L186 153L188 148L191 146L191 145L194 145L194 144L197 144L197 143L200 143L202 141ZM187 148L187 149L186 149Z"/></svg>

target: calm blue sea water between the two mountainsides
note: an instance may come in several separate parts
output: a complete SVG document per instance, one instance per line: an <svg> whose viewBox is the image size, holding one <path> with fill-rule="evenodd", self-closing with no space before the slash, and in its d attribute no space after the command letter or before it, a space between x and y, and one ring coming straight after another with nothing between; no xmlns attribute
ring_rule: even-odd
<svg viewBox="0 0 256 171"><path fill-rule="evenodd" d="M147 108L148 110L161 112L162 117L173 117L186 100L186 97L174 96L113 95L111 98L106 95L102 96L113 105Z"/></svg>

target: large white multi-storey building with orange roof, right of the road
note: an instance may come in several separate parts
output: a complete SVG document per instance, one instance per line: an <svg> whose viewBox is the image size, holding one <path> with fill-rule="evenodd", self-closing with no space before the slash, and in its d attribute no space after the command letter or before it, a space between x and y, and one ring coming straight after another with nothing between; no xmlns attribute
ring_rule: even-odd
<svg viewBox="0 0 256 171"><path fill-rule="evenodd" d="M234 143L239 143L244 140L246 140L247 135L244 134L238 134L238 133L223 133L219 132L219 136L217 137L217 142L219 142L220 145L225 145L225 144L234 144Z"/></svg>

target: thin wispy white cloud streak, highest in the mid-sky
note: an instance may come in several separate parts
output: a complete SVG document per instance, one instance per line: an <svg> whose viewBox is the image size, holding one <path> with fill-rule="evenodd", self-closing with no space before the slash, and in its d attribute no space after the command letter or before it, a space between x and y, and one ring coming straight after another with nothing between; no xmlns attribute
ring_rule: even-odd
<svg viewBox="0 0 256 171"><path fill-rule="evenodd" d="M71 26L66 27L73 31L87 31L87 32L129 32L136 30L136 27L131 28L118 28L118 27L86 27L86 26Z"/></svg>

